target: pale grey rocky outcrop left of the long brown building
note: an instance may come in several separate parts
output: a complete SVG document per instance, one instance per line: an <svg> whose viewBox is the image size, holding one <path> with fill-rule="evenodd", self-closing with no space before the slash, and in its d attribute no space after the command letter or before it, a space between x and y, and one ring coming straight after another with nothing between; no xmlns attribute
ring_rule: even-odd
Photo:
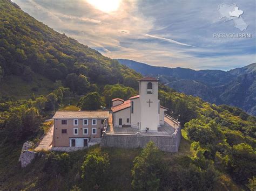
<svg viewBox="0 0 256 191"><path fill-rule="evenodd" d="M33 159L35 159L37 152L30 151L34 144L32 142L25 142L22 146L21 155L19 156L19 162L21 162L21 167L26 167L29 165Z"/></svg>

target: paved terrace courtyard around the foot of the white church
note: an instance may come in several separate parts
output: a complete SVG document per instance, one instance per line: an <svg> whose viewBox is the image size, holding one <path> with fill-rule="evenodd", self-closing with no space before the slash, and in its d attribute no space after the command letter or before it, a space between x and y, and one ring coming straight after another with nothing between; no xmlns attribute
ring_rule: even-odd
<svg viewBox="0 0 256 191"><path fill-rule="evenodd" d="M124 128L116 128L111 125L111 128L107 128L106 133L117 133L117 134L136 134L137 128L124 127ZM145 130L141 130L141 135L159 135L159 136L170 136L174 133L175 124L167 117L165 117L165 124L161 125L158 128L158 132L148 132Z"/></svg>

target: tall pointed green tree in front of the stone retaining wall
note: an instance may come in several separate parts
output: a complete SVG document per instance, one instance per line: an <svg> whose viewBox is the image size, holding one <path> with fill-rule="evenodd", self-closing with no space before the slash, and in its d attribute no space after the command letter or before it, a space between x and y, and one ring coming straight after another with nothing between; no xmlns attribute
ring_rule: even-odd
<svg viewBox="0 0 256 191"><path fill-rule="evenodd" d="M162 176L163 154L153 142L149 142L133 161L132 187L136 190L157 190Z"/></svg>

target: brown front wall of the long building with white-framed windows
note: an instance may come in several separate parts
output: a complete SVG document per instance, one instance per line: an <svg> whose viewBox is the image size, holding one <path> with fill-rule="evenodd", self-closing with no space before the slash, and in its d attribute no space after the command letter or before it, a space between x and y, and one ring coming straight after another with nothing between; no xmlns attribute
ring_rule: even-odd
<svg viewBox="0 0 256 191"><path fill-rule="evenodd" d="M62 124L62 120L66 120L67 124ZM70 138L100 138L104 124L102 119L96 119L97 124L92 125L92 119L87 119L87 125L84 125L83 119L78 119L78 125L74 125L73 119L54 119L53 143L54 147L70 146ZM104 119L103 119L104 120ZM107 122L108 123L108 122ZM78 135L74 135L73 129L78 128ZM84 135L84 129L87 128L87 134ZM96 128L96 135L92 135L92 128ZM62 133L67 130L67 133Z"/></svg>

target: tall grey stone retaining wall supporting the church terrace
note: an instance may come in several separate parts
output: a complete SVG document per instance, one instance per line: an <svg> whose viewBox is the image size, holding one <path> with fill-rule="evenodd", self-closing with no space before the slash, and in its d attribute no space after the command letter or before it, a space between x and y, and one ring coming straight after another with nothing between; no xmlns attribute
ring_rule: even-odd
<svg viewBox="0 0 256 191"><path fill-rule="evenodd" d="M178 152L181 139L181 129L177 129L173 136L151 136L107 133L102 137L100 146L118 148L145 147L150 141L154 142L160 150L166 152Z"/></svg>

